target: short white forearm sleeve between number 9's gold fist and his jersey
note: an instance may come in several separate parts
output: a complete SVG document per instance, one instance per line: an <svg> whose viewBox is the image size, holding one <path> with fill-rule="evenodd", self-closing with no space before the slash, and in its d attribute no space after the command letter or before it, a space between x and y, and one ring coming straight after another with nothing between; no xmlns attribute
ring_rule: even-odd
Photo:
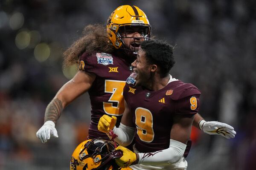
<svg viewBox="0 0 256 170"><path fill-rule="evenodd" d="M115 141L125 147L131 144L132 140L134 139L135 127L126 126L120 123L119 127L116 126L113 128L113 133L117 135ZM108 137L111 139L111 136L106 133Z"/></svg>

